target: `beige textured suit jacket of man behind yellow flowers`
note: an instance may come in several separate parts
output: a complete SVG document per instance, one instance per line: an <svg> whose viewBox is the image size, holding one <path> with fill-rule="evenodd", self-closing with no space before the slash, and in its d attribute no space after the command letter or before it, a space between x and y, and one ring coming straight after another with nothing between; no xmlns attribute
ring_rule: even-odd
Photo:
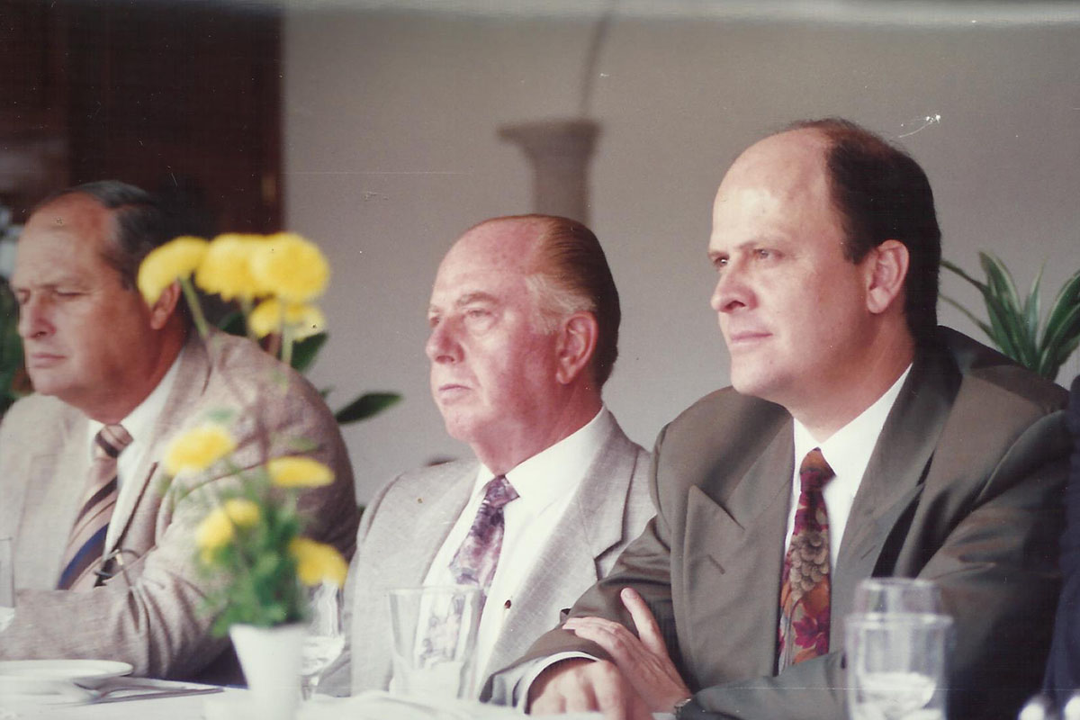
<svg viewBox="0 0 1080 720"><path fill-rule="evenodd" d="M193 528L205 516L204 495L185 498L192 483L221 490L228 476L167 484L159 459L168 440L207 412L237 411L232 432L241 467L267 456L291 454L289 441L313 443L311 457L335 481L306 491L308 534L347 556L359 513L352 471L333 416L300 376L254 343L192 332L179 355L176 381L152 431L133 503L118 505L116 545L125 572L86 593L53 589L90 463L87 420L53 397L16 403L0 425L0 536L15 539L15 622L0 633L0 660L100 657L135 666L135 674L189 677L222 653L227 638L211 637L214 609L203 608L207 578L194 565ZM261 427L260 427L261 426ZM125 488L125 493L129 488ZM135 488L130 488L135 489Z"/></svg>

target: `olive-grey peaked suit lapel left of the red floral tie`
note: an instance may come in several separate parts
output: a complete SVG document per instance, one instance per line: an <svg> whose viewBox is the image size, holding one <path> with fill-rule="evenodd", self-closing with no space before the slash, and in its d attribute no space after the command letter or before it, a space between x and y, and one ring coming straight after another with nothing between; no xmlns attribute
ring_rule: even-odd
<svg viewBox="0 0 1080 720"><path fill-rule="evenodd" d="M728 498L708 497L707 485L689 490L685 547L702 552L684 558L681 589L684 597L702 601L688 608L690 623L679 625L679 647L689 648L686 660L703 668L701 677L771 675L775 665L795 449L791 420L773 432ZM741 620L731 623L731 617ZM719 635L717 627L724 628Z"/></svg>

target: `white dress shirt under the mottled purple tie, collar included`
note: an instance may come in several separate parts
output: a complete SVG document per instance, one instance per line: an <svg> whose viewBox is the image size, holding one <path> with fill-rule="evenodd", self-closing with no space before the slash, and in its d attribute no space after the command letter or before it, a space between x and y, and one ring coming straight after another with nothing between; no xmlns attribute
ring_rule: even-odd
<svg viewBox="0 0 1080 720"><path fill-rule="evenodd" d="M578 486L584 480L585 473L596 460L604 439L613 430L615 418L607 408L600 408L595 418L572 435L538 452L505 474L518 497L503 507L505 531L502 549L488 587L476 639L477 683L483 680L478 676L487 666L496 640L502 633L507 610L519 593L528 592L528 588L522 587L522 583L537 559L537 548L546 543ZM455 584L450 560L476 518L476 511L484 499L484 486L492 477L495 473L482 464L469 503L435 554L423 580L424 585Z"/></svg>

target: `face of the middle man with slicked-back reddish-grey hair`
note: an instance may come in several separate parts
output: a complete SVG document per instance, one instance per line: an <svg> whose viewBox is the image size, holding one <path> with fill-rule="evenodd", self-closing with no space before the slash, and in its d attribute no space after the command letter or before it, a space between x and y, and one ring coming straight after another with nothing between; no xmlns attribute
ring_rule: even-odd
<svg viewBox="0 0 1080 720"><path fill-rule="evenodd" d="M470 231L432 288L431 392L447 433L465 443L530 437L553 403L555 336L538 329L527 227L498 221Z"/></svg>

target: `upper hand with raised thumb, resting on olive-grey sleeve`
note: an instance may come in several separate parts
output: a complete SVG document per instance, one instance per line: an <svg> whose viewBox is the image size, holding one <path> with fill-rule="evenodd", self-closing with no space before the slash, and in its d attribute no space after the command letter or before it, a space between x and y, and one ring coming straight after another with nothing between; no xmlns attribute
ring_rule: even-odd
<svg viewBox="0 0 1080 720"><path fill-rule="evenodd" d="M691 695L690 689L675 669L660 627L642 596L624 587L620 597L637 626L639 638L623 625L600 617L571 617L563 628L607 651L622 678L651 711L673 712L675 703Z"/></svg>

